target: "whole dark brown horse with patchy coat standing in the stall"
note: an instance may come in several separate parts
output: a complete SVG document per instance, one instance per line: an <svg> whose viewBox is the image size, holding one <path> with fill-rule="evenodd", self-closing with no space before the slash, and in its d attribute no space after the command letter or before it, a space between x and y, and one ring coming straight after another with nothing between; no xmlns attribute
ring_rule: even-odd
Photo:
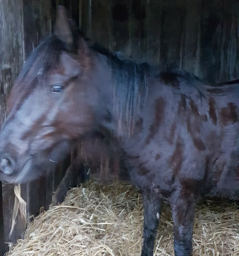
<svg viewBox="0 0 239 256"><path fill-rule="evenodd" d="M79 137L117 141L144 201L143 256L152 256L162 200L175 255L192 253L196 199L238 199L237 82L210 86L185 71L123 61L76 37L58 10L55 34L27 60L0 133L0 179L32 180Z"/></svg>

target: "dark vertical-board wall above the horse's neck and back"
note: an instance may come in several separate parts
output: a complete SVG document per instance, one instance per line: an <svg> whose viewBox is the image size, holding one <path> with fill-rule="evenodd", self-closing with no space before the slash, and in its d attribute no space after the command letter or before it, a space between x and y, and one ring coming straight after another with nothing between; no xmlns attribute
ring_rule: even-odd
<svg viewBox="0 0 239 256"><path fill-rule="evenodd" d="M79 2L80 27L113 52L211 83L239 77L238 0Z"/></svg>

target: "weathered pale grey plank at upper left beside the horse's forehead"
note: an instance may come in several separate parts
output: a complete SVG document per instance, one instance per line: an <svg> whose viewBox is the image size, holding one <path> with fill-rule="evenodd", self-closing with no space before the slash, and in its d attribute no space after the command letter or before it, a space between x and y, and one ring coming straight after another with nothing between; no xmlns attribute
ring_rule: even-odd
<svg viewBox="0 0 239 256"><path fill-rule="evenodd" d="M0 8L0 93L5 96L8 96L13 81L23 65L22 28L21 1L15 3L2 0Z"/></svg>

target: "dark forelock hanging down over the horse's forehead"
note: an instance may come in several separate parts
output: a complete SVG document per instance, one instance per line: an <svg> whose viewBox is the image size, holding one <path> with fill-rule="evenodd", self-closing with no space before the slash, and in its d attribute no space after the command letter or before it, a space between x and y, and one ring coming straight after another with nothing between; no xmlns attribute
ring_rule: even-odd
<svg viewBox="0 0 239 256"><path fill-rule="evenodd" d="M67 52L67 49L64 43L54 35L34 49L15 81L14 90L10 93L7 102L8 113L13 106L18 106L37 85L42 85L44 74L59 63L61 51Z"/></svg>

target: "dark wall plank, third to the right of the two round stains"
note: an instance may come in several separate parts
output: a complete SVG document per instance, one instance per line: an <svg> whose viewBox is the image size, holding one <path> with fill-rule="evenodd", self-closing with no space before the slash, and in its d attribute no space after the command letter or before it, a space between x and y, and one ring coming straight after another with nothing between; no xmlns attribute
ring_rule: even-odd
<svg viewBox="0 0 239 256"><path fill-rule="evenodd" d="M186 0L182 68L198 75L200 0Z"/></svg>

